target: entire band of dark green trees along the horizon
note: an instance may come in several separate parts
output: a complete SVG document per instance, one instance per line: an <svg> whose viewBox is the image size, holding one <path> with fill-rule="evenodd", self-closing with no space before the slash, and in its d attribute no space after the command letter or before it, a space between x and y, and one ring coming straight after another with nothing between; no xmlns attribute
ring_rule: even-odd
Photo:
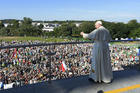
<svg viewBox="0 0 140 93"><path fill-rule="evenodd" d="M81 25L76 27L75 22L80 22ZM103 21L103 26L106 27L112 38L136 38L140 37L140 23L137 20L130 20L128 23L123 22L107 22ZM95 29L95 21L53 21L49 23L61 23L61 26L54 29L53 32L43 32L43 25L32 25L32 19L24 18L21 23L18 20L10 21L8 27L4 27L0 23L0 35L2 36L70 36L80 37L80 32L90 33Z"/></svg>

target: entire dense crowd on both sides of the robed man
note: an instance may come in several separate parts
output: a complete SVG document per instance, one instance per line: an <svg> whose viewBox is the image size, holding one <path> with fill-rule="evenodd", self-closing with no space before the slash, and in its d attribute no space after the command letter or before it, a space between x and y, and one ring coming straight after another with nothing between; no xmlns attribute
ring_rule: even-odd
<svg viewBox="0 0 140 93"><path fill-rule="evenodd" d="M1 42L1 46L44 43L41 41ZM71 78L88 75L91 64L92 43L35 46L0 49L0 87L17 87L49 80L51 60L51 79ZM55 52L49 56L47 53ZM110 45L113 71L124 70L124 66L138 64L137 47L120 44ZM65 63L67 69L62 69Z"/></svg>

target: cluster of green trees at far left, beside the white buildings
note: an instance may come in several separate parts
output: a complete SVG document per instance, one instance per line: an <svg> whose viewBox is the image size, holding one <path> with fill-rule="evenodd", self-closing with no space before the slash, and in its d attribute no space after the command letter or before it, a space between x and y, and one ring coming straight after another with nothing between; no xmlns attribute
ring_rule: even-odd
<svg viewBox="0 0 140 93"><path fill-rule="evenodd" d="M10 20L8 26L4 27L3 22L0 23L1 36L40 36L43 34L42 25L32 25L32 19L24 18L21 23L18 20Z"/></svg>

